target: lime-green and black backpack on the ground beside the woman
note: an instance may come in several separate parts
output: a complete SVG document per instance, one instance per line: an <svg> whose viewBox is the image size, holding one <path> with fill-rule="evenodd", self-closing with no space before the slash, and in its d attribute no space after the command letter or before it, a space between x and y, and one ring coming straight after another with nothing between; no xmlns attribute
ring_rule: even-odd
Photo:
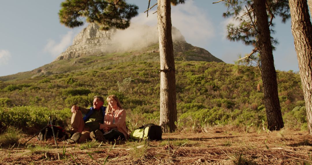
<svg viewBox="0 0 312 165"><path fill-rule="evenodd" d="M160 126L150 123L133 130L130 133L130 138L133 140L161 140L162 133Z"/></svg>

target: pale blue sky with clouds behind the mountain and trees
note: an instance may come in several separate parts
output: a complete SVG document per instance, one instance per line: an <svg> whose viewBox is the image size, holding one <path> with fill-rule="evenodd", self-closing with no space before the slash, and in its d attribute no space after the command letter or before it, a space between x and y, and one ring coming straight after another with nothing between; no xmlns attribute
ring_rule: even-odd
<svg viewBox="0 0 312 165"><path fill-rule="evenodd" d="M51 63L72 44L72 40L83 27L74 29L59 23L58 11L62 0L0 0L0 76L32 69ZM132 22L156 25L156 7L143 13L148 0L128 0L139 6L139 15ZM172 7L172 24L185 40L193 46L202 47L226 63L234 63L238 55L248 54L252 47L242 42L226 39L226 25L230 18L223 18L226 8L212 4L211 0L187 0L185 4ZM151 5L156 3L151 0ZM273 37L279 45L273 52L275 68L299 71L290 29L290 20L282 24L276 18Z"/></svg>

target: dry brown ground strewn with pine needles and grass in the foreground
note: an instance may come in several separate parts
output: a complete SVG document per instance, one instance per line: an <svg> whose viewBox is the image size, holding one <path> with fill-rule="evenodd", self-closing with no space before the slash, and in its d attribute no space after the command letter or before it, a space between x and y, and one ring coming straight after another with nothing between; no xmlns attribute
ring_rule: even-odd
<svg viewBox="0 0 312 165"><path fill-rule="evenodd" d="M163 141L115 145L57 141L58 147L52 139L35 138L23 146L28 136L18 147L1 146L0 164L312 164L312 135L307 132L283 128L246 133L231 126L205 132L164 133Z"/></svg>

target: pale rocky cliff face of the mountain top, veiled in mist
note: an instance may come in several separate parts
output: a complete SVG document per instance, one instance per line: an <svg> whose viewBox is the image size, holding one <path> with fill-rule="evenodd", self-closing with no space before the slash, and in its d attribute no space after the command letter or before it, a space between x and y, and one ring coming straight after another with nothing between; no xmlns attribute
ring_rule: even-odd
<svg viewBox="0 0 312 165"><path fill-rule="evenodd" d="M185 42L181 32L172 28L173 41ZM157 27L132 25L125 30L99 30L99 26L90 23L73 40L73 45L61 53L55 61L92 55L94 52L120 52L140 49L158 42Z"/></svg>

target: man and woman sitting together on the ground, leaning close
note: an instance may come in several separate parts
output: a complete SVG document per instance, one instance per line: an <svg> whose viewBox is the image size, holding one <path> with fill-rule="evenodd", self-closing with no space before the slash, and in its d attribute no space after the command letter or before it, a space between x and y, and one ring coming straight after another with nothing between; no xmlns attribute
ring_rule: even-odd
<svg viewBox="0 0 312 165"><path fill-rule="evenodd" d="M121 107L115 95L106 98L108 107L103 107L104 99L95 96L90 109L71 107L70 143L82 143L86 140L99 141L125 140L129 138L126 128L126 111ZM83 116L85 114L85 116Z"/></svg>

